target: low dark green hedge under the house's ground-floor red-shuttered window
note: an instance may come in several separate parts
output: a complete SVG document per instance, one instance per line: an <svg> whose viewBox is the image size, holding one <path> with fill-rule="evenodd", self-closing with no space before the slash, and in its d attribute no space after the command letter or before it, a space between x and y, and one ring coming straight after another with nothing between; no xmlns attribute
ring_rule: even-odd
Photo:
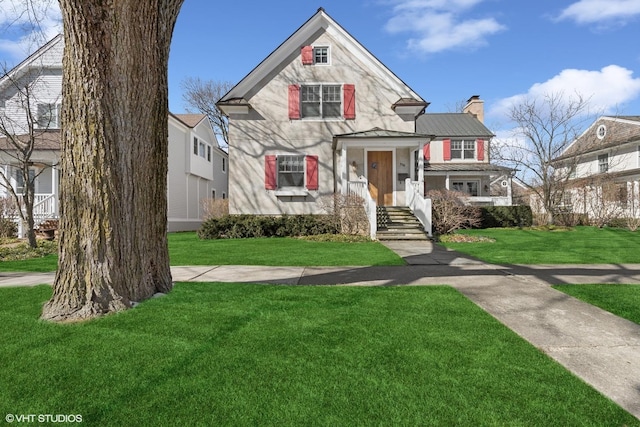
<svg viewBox="0 0 640 427"><path fill-rule="evenodd" d="M201 239L300 237L337 234L340 225L324 215L225 215L210 218L198 230Z"/></svg>

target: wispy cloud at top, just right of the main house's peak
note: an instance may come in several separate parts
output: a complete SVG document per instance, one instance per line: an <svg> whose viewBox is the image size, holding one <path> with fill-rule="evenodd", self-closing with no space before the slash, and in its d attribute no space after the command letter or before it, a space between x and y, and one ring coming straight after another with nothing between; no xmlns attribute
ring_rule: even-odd
<svg viewBox="0 0 640 427"><path fill-rule="evenodd" d="M387 22L385 29L393 34L412 34L407 47L421 53L483 46L487 43L487 36L506 27L493 18L462 17L482 1L484 0L396 0L393 17Z"/></svg>

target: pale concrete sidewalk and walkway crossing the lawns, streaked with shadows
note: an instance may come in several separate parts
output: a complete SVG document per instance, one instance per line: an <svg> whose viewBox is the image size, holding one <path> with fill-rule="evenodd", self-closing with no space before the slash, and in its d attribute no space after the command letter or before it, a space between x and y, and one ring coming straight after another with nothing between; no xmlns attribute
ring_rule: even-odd
<svg viewBox="0 0 640 427"><path fill-rule="evenodd" d="M172 267L179 282L394 286L446 284L640 419L640 325L550 285L640 283L640 264L497 266L430 242L385 243L407 266ZM52 283L53 274L0 273L0 286Z"/></svg>

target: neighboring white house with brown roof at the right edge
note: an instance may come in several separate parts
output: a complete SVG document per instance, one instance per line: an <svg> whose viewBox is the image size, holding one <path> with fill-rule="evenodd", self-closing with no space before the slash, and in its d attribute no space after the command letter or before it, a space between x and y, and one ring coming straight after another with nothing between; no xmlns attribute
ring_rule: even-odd
<svg viewBox="0 0 640 427"><path fill-rule="evenodd" d="M640 218L640 116L598 118L558 158L562 205L592 221Z"/></svg>

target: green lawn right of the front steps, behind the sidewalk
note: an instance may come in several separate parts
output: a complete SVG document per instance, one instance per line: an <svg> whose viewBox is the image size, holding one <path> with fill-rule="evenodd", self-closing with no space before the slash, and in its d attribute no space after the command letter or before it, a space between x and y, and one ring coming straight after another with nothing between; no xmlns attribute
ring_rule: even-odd
<svg viewBox="0 0 640 427"><path fill-rule="evenodd" d="M640 263L640 232L575 227L563 231L492 228L464 230L495 242L443 243L447 248L493 264Z"/></svg>

